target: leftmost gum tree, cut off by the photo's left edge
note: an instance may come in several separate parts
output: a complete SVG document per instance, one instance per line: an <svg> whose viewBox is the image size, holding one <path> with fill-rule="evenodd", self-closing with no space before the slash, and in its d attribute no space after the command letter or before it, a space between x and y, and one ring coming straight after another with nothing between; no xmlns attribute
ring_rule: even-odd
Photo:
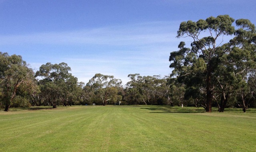
<svg viewBox="0 0 256 152"><path fill-rule="evenodd" d="M20 94L26 94L25 92L31 89L33 74L21 56L9 56L8 53L0 52L0 101L5 105L5 111L12 106L18 90ZM20 89L23 84L27 87Z"/></svg>

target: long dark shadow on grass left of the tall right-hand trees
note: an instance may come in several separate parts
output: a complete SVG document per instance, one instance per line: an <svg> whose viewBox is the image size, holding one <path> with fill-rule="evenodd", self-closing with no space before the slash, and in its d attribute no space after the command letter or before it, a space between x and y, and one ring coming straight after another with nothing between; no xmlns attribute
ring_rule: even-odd
<svg viewBox="0 0 256 152"><path fill-rule="evenodd" d="M141 109L147 109L152 110L150 113L204 113L204 109L194 108L194 107L149 107L149 108L141 108Z"/></svg>

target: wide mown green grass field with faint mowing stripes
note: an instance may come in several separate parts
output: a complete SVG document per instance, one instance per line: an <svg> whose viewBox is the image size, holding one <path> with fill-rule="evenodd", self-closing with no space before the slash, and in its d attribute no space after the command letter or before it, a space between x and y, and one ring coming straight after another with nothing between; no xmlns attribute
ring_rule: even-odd
<svg viewBox="0 0 256 152"><path fill-rule="evenodd" d="M256 110L72 106L0 110L1 152L255 152Z"/></svg>

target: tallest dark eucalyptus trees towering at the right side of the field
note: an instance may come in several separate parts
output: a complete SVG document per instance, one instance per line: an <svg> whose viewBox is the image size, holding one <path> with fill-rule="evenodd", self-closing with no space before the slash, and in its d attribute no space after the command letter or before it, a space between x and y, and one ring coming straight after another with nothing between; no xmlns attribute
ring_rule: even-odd
<svg viewBox="0 0 256 152"><path fill-rule="evenodd" d="M256 68L255 26L250 20L239 19L235 29L234 21L220 15L182 22L177 37L190 37L191 48L180 42L180 50L170 53L171 76L186 85L186 98L193 98L207 112L211 112L213 99L223 112L230 96L242 88L240 82ZM226 35L234 38L223 44Z"/></svg>

